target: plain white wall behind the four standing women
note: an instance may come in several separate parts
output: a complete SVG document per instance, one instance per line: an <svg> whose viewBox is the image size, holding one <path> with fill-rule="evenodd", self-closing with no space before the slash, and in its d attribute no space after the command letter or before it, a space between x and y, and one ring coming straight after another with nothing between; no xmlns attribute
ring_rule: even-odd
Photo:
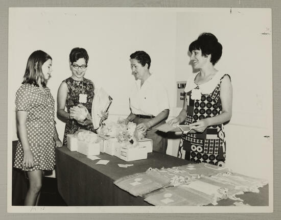
<svg viewBox="0 0 281 220"><path fill-rule="evenodd" d="M9 11L9 140L15 140L15 92L35 50L53 58L48 82L56 99L62 80L71 76L73 47L89 54L85 77L113 97L109 119L129 113L128 89L134 80L129 55L146 51L151 71L165 84L170 118L177 116L176 81L192 74L188 47L202 32L223 45L216 67L231 75L233 114L226 126L227 165L250 176L272 180L272 48L270 9L199 8L12 8ZM64 124L57 119L63 136ZM264 136L268 135L269 138ZM176 155L178 139L169 139Z"/></svg>

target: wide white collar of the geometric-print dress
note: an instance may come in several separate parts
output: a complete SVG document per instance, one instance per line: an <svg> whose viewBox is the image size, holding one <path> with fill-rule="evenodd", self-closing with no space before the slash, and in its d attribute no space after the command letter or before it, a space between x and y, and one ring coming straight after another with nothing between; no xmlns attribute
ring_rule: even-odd
<svg viewBox="0 0 281 220"><path fill-rule="evenodd" d="M196 76L198 74L199 74L199 72L197 72L196 74L192 75L186 81L184 92L189 92L189 91L191 91L191 90L193 90L194 88L197 87L201 94L210 94L210 93L212 93L214 91L214 89L216 88L216 86L220 82L220 79L223 77L224 72L218 71L217 74L212 79L210 79L208 82L203 83L201 85L197 85L194 82L194 79L196 78ZM201 99L201 97L200 97L200 99Z"/></svg>

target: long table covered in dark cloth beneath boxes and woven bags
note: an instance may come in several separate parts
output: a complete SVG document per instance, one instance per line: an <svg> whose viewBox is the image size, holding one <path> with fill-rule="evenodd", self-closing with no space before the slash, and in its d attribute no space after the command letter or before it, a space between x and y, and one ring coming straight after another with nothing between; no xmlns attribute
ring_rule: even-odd
<svg viewBox="0 0 281 220"><path fill-rule="evenodd" d="M69 151L66 146L56 149L56 175L58 191L68 206L150 206L142 197L134 197L113 184L121 177L145 172L149 167L169 168L190 163L170 155L148 153L145 160L126 162L105 153L98 155L109 160L107 165L98 165L78 152ZM118 164L134 164L128 168ZM268 206L268 185L260 193L247 192L239 195L244 203L253 206ZM221 200L219 206L229 206L233 200Z"/></svg>

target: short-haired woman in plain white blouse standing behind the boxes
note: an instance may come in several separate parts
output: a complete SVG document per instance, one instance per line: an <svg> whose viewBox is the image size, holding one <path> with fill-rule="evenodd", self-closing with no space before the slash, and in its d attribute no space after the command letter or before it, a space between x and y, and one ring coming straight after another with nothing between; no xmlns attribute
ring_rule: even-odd
<svg viewBox="0 0 281 220"><path fill-rule="evenodd" d="M165 154L167 136L155 128L165 123L169 115L166 89L149 71L151 59L144 51L130 55L132 74L137 79L130 93L130 110L127 121L137 124L140 132L153 140L153 151Z"/></svg>

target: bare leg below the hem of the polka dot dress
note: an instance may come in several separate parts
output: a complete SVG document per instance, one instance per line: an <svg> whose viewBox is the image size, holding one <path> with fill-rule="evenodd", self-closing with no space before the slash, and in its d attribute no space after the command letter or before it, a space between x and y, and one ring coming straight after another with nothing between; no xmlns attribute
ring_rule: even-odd
<svg viewBox="0 0 281 220"><path fill-rule="evenodd" d="M42 170L27 172L29 178L29 189L25 199L25 206L34 206L42 186Z"/></svg>

